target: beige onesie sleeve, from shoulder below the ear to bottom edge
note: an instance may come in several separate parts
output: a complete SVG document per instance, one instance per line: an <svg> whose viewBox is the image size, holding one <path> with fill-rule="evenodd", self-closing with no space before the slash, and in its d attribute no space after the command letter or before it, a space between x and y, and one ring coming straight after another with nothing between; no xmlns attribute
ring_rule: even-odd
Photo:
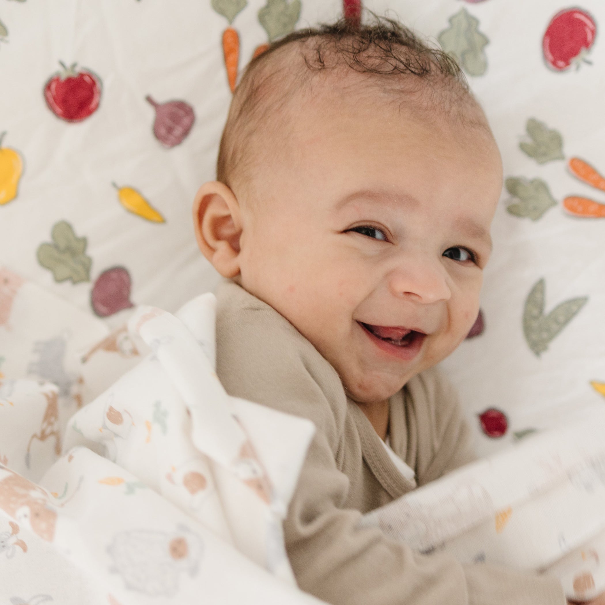
<svg viewBox="0 0 605 605"><path fill-rule="evenodd" d="M358 528L361 513L344 507L350 484L336 464L346 409L338 375L293 328L276 333L264 313L217 320L217 373L230 394L316 425L284 522L302 590L333 605L565 605L551 578L464 567L445 553L417 554L378 528Z"/></svg>

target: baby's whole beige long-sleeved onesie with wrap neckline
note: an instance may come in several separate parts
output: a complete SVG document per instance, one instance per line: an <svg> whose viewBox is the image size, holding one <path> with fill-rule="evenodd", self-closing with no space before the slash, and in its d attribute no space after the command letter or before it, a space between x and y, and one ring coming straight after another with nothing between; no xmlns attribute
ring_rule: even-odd
<svg viewBox="0 0 605 605"><path fill-rule="evenodd" d="M335 605L565 605L557 580L444 553L417 554L358 529L414 489L333 367L287 319L233 281L217 289L217 374L233 396L315 423L284 522L302 590ZM456 394L436 368L390 398L390 446L424 485L474 459Z"/></svg>

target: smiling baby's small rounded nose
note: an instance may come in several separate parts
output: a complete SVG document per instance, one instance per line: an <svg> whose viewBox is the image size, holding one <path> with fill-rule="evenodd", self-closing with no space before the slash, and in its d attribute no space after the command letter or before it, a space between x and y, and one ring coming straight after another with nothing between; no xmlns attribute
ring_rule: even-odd
<svg viewBox="0 0 605 605"><path fill-rule="evenodd" d="M395 296L431 304L451 297L448 276L443 265L416 256L400 263L388 275L388 287Z"/></svg>

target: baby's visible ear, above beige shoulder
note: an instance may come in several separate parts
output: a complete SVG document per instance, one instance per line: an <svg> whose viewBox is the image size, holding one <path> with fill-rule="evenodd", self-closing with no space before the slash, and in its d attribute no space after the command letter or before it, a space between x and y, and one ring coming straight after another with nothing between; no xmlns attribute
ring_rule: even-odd
<svg viewBox="0 0 605 605"><path fill-rule="evenodd" d="M227 278L240 273L240 204L218 181L202 185L193 204L195 238L204 257Z"/></svg>

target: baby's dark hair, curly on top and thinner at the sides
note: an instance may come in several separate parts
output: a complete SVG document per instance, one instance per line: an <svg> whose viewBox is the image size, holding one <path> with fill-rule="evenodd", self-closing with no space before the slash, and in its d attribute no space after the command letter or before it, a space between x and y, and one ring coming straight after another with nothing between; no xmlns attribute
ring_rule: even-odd
<svg viewBox="0 0 605 605"><path fill-rule="evenodd" d="M232 187L236 174L237 178L249 175L255 134L271 132L283 137L288 103L321 76L361 74L364 81L352 79L349 88L341 77L341 86L350 93L368 87L382 90L399 105L421 113L422 119L431 119L433 114L459 126L489 131L454 57L396 20L370 15L368 24L341 19L296 30L250 61L223 131L217 180Z"/></svg>

